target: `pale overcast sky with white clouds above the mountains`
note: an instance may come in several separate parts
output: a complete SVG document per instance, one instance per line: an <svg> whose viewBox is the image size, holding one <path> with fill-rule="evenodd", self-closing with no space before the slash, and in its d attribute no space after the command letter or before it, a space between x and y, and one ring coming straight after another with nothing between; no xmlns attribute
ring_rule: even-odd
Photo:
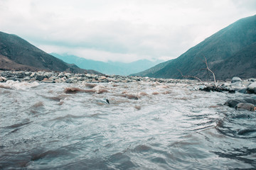
<svg viewBox="0 0 256 170"><path fill-rule="evenodd" d="M255 14L255 0L0 0L0 31L49 53L170 60Z"/></svg>

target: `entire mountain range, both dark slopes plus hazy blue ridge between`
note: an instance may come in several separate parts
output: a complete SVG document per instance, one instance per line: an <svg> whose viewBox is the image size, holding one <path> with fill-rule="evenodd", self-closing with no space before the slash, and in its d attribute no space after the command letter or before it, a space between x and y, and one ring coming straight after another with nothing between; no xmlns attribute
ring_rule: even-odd
<svg viewBox="0 0 256 170"><path fill-rule="evenodd" d="M1 70L46 70L95 74L102 72L121 75L139 72L132 75L174 79L181 79L180 72L182 72L183 75L212 80L212 75L205 69L204 57L218 80L232 77L255 78L256 15L240 19L191 47L180 57L167 62L159 60L155 62L139 60L131 63L97 62L74 55L49 55L17 35L0 32Z"/></svg>

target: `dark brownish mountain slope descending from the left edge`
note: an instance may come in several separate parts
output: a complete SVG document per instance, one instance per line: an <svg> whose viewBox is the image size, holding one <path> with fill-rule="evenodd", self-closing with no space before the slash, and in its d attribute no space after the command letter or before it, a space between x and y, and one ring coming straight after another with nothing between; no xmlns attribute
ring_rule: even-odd
<svg viewBox="0 0 256 170"><path fill-rule="evenodd" d="M100 74L94 70L80 69L75 64L67 64L17 35L3 32L0 32L0 69Z"/></svg>

